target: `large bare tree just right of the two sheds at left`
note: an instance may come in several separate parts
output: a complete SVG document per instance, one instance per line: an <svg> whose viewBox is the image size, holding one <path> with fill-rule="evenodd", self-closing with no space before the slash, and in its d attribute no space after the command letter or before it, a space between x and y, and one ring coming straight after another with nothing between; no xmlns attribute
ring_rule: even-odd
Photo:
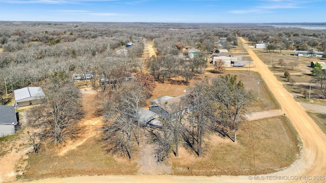
<svg viewBox="0 0 326 183"><path fill-rule="evenodd" d="M42 129L41 140L54 144L74 138L78 132L78 119L83 117L79 89L66 72L55 72L44 88L46 100L29 111L30 124Z"/></svg>

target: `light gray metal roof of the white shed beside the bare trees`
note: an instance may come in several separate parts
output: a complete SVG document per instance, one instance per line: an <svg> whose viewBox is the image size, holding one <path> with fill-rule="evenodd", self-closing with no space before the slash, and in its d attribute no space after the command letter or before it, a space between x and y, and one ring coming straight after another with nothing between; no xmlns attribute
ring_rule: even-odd
<svg viewBox="0 0 326 183"><path fill-rule="evenodd" d="M24 87L20 89L15 89L14 94L16 102L24 102L45 98L41 87Z"/></svg>

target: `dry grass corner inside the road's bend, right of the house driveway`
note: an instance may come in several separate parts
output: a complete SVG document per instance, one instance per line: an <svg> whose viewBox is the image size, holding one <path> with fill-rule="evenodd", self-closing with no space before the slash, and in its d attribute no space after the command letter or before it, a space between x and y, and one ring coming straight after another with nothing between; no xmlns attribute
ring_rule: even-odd
<svg viewBox="0 0 326 183"><path fill-rule="evenodd" d="M207 139L204 158L172 158L178 175L266 174L289 166L298 154L295 130L284 117L248 121L236 143L220 136ZM188 170L192 168L192 172Z"/></svg>

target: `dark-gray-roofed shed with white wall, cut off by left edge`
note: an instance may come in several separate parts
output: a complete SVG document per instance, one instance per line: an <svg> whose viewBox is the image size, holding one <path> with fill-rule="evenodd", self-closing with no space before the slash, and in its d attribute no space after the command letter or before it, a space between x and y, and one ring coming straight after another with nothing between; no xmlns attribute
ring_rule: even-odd
<svg viewBox="0 0 326 183"><path fill-rule="evenodd" d="M0 105L0 137L15 134L17 117L15 108Z"/></svg>

